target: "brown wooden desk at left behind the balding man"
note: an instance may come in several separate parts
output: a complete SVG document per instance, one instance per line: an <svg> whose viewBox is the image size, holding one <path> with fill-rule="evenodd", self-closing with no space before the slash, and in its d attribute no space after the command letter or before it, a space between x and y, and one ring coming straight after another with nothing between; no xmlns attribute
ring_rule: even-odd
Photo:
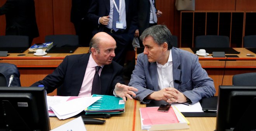
<svg viewBox="0 0 256 131"><path fill-rule="evenodd" d="M48 74L51 74L56 67L61 64L67 55L88 53L89 47L78 47L74 53L47 54L36 56L28 54L28 50L23 53L9 53L7 57L0 57L0 63L15 64L21 74L21 86L31 86L36 81L42 80ZM19 56L22 55L22 56ZM56 95L56 90L48 95Z"/></svg>

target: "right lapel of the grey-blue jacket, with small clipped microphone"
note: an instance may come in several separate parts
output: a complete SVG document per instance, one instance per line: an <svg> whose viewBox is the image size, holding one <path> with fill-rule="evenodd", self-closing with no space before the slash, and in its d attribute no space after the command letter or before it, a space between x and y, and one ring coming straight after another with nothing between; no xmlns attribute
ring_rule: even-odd
<svg viewBox="0 0 256 131"><path fill-rule="evenodd" d="M171 49L171 55L173 57L173 81L180 80L181 70L180 70L180 59L178 51L174 48ZM175 89L178 89L179 83L173 82Z"/></svg>

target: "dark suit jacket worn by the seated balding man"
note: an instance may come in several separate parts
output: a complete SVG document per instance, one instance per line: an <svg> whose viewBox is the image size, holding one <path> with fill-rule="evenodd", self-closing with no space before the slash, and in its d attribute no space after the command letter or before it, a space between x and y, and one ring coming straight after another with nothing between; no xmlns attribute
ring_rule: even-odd
<svg viewBox="0 0 256 131"><path fill-rule="evenodd" d="M32 86L43 84L47 93L57 88L58 96L78 96L89 56L90 54L66 56L52 74ZM100 74L100 81L102 85L101 94L113 95L116 83L124 84L123 67L114 61L110 65L105 65Z"/></svg>

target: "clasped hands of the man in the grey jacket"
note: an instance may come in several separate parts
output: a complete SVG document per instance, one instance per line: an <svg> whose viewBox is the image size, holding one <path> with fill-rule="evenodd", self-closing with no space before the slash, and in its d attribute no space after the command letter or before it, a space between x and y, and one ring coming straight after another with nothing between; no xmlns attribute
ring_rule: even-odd
<svg viewBox="0 0 256 131"><path fill-rule="evenodd" d="M154 99L156 101L164 100L168 103L178 102L183 103L187 102L187 97L177 89L173 87L167 87L161 89L160 91L155 91L151 93L147 99Z"/></svg>

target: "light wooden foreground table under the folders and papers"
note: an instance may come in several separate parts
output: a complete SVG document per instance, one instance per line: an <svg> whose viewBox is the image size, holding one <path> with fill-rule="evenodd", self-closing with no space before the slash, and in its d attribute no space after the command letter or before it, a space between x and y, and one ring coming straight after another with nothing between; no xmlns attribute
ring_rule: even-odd
<svg viewBox="0 0 256 131"><path fill-rule="evenodd" d="M141 131L140 124L140 107L146 107L140 104L138 100L130 100L126 102L125 113L106 118L104 124L86 124L87 131ZM50 118L51 129L65 124L74 118L59 120L58 118ZM216 125L215 117L187 118L190 122L189 129L181 129L175 131L213 131Z"/></svg>

